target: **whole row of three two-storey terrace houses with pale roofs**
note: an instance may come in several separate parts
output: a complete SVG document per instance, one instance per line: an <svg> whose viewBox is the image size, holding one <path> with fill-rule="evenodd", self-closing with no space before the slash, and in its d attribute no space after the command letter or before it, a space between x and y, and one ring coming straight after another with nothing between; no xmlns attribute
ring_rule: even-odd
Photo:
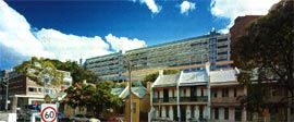
<svg viewBox="0 0 294 122"><path fill-rule="evenodd" d="M151 87L150 121L245 120L246 111L238 108L237 97L245 95L246 89L237 86L236 73L235 70L172 75L160 72Z"/></svg>

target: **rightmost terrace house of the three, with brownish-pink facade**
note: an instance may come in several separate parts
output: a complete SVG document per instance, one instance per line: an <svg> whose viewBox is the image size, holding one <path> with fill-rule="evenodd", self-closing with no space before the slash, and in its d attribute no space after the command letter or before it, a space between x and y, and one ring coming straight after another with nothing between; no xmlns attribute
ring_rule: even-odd
<svg viewBox="0 0 294 122"><path fill-rule="evenodd" d="M241 99L247 95L247 88L240 85L235 75L235 70L210 72L211 122L246 121Z"/></svg>

